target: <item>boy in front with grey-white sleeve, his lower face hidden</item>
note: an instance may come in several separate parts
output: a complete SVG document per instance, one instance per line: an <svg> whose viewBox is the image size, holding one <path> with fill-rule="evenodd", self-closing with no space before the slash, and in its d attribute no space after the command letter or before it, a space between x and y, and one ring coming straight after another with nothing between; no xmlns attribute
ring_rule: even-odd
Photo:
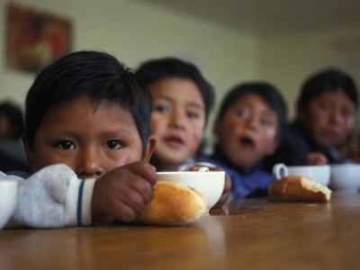
<svg viewBox="0 0 360 270"><path fill-rule="evenodd" d="M147 162L155 145L151 104L135 76L106 53L79 51L46 67L26 97L33 174L0 177L19 182L7 227L136 220L157 178Z"/></svg>

